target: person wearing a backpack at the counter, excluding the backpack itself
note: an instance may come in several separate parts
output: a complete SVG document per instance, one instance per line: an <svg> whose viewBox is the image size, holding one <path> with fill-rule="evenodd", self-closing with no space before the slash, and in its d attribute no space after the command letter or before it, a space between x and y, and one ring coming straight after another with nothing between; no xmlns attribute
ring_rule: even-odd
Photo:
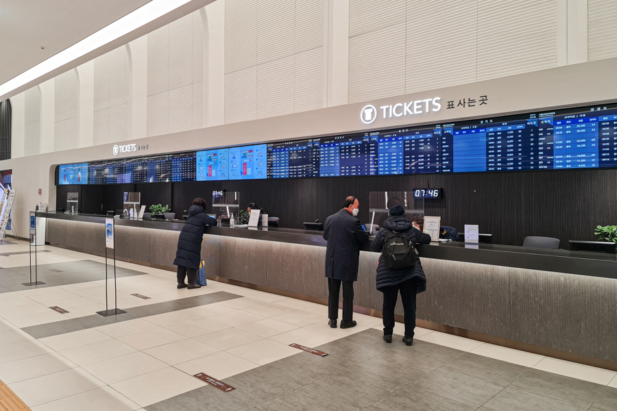
<svg viewBox="0 0 617 411"><path fill-rule="evenodd" d="M420 232L405 219L405 210L401 206L390 208L389 218L384 221L371 245L373 251L383 251L385 238L390 231L404 232L413 245L431 242L431 236ZM418 292L426 290L426 277L420 260L410 269L395 270L385 264L382 254L377 264L377 289L383 292L383 339L386 343L392 342L394 307L400 291L405 314L403 342L411 345L415 328L415 297Z"/></svg>

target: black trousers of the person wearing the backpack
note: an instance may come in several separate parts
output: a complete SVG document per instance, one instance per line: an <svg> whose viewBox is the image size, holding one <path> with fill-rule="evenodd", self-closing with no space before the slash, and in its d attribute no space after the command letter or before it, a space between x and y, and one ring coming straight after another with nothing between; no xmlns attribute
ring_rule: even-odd
<svg viewBox="0 0 617 411"><path fill-rule="evenodd" d="M400 291L405 313L405 336L413 338L415 328L415 279L408 279L396 286L380 288L383 292L383 334L391 335L394 330L394 307Z"/></svg>

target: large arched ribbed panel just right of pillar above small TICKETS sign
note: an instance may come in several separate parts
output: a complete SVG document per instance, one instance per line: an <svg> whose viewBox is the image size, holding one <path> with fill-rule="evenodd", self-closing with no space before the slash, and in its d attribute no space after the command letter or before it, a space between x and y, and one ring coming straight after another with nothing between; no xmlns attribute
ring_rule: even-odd
<svg viewBox="0 0 617 411"><path fill-rule="evenodd" d="M199 10L148 34L147 136L204 127L204 23Z"/></svg>

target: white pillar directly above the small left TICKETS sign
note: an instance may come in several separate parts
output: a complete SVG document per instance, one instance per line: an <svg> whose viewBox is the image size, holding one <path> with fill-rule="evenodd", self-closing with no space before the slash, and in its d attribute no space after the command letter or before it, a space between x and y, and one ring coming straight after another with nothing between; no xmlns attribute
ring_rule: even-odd
<svg viewBox="0 0 617 411"><path fill-rule="evenodd" d="M130 138L144 138L148 104L148 36L128 44L130 71Z"/></svg>

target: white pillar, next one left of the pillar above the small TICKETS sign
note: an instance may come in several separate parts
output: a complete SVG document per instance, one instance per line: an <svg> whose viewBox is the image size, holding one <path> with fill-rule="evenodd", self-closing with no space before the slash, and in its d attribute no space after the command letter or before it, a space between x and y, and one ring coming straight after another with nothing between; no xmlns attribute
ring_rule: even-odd
<svg viewBox="0 0 617 411"><path fill-rule="evenodd" d="M77 147L94 144L94 60L77 66L80 92L77 97Z"/></svg>

